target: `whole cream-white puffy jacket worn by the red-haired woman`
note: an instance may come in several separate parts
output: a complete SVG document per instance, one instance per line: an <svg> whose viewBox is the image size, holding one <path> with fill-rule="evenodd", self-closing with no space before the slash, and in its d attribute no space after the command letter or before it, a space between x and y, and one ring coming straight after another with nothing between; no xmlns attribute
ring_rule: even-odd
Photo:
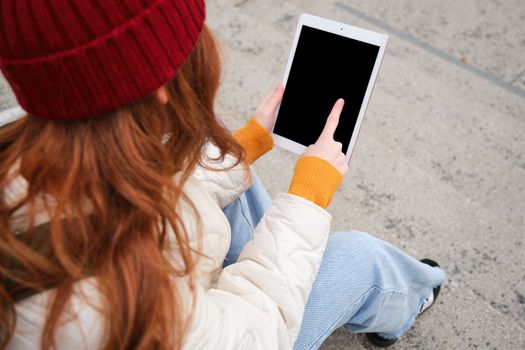
<svg viewBox="0 0 525 350"><path fill-rule="evenodd" d="M216 153L217 149L209 145L206 154L213 157ZM224 167L232 161L232 157L227 157L214 166ZM185 349L290 349L298 335L326 246L331 216L306 199L278 194L238 262L221 270L231 239L221 208L248 185L240 166L225 172L198 168L185 185L185 192L203 218L204 236L200 243L208 257L200 259L197 267L196 306ZM16 200L26 189L27 183L18 177L6 191L6 199ZM184 206L181 210L183 215L189 214ZM23 229L24 208L15 216L13 230ZM183 220L186 227L195 227L189 215ZM40 215L36 224L45 221L46 216ZM184 281L179 283L184 287ZM63 325L56 333L58 348L97 349L103 341L104 321L94 308L100 300L96 280L83 280L75 288L72 314L63 316ZM189 291L181 291L189 304ZM89 302L77 296L80 292ZM16 305L16 332L8 349L39 347L50 293L53 291Z"/></svg>

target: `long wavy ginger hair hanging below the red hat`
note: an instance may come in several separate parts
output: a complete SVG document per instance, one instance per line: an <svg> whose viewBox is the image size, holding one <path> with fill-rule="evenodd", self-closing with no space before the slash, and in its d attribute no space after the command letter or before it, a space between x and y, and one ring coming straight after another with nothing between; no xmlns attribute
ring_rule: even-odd
<svg viewBox="0 0 525 350"><path fill-rule="evenodd" d="M190 246L197 233L186 232L177 211L183 201L200 222L182 188L206 166L207 142L221 150L218 160L234 155L247 171L243 149L214 114L220 69L205 26L165 86L167 104L151 95L85 120L28 115L0 130L0 348L13 336L15 303L42 291L51 298L41 347L56 347L75 283L91 277L102 296L103 348L181 348L191 317L174 281L192 287L199 257ZM8 203L17 176L27 195ZM49 221L37 225L42 210ZM15 233L21 212L27 227Z"/></svg>

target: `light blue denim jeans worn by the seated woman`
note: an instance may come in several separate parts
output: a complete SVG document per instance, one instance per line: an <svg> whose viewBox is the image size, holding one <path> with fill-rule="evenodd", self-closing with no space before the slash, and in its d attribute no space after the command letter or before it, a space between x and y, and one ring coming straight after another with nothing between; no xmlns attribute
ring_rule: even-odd
<svg viewBox="0 0 525 350"><path fill-rule="evenodd" d="M232 228L224 266L237 261L271 201L252 175L251 187L224 209ZM367 233L332 233L294 349L317 349L342 326L354 333L376 332L397 339L412 326L432 288L445 280L442 269Z"/></svg>

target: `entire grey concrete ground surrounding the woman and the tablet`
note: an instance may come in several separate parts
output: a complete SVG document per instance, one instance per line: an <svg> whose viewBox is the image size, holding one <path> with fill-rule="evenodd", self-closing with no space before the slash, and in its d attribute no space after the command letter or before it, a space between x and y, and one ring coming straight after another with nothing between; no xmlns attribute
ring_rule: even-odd
<svg viewBox="0 0 525 350"><path fill-rule="evenodd" d="M329 210L334 231L370 232L449 274L392 349L525 349L525 2L209 1L230 128L281 80L302 12L390 35ZM0 109L13 105L0 79ZM272 195L287 190L296 159L275 149L258 161ZM344 330L322 347L364 348Z"/></svg>

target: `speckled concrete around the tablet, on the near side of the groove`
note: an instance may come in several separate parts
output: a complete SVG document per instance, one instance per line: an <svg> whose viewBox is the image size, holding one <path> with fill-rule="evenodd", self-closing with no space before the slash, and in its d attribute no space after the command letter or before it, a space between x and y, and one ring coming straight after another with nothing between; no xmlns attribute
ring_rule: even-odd
<svg viewBox="0 0 525 350"><path fill-rule="evenodd" d="M221 92L219 104L230 115L242 116L238 120L248 116L262 94L273 87L272 79L282 77L298 14L303 12L292 3L252 0L211 6L210 23L218 30L231 65L225 77L227 91ZM326 2L308 4L308 12L322 7L326 13L321 15L370 28L340 9L329 12ZM220 13L228 15L215 21ZM480 342L487 337L501 348L515 348L524 344L525 334L523 311L517 305L525 290L519 246L523 121L518 112L523 110L523 99L394 39L351 171L330 209L334 229L361 228L414 256L437 257L460 286L457 293L472 297L469 305L453 306L447 301L448 306L443 305L447 317L438 315L415 330L432 334L435 322L450 323L452 318L450 325L466 340L452 342L457 347L430 342L424 348L430 344L434 348L483 347L490 343ZM239 102L241 96L246 99ZM258 162L270 192L286 190L295 159L277 150ZM502 206L511 205L517 211L502 215ZM507 255L512 258L502 258ZM472 324L469 317L480 308L490 317ZM458 310L465 316L457 315ZM517 338L505 343L507 331L498 327L490 331L499 324L510 324ZM469 340L469 332L476 327L478 332ZM446 339L450 334L442 335ZM337 341L334 344L339 346Z"/></svg>

